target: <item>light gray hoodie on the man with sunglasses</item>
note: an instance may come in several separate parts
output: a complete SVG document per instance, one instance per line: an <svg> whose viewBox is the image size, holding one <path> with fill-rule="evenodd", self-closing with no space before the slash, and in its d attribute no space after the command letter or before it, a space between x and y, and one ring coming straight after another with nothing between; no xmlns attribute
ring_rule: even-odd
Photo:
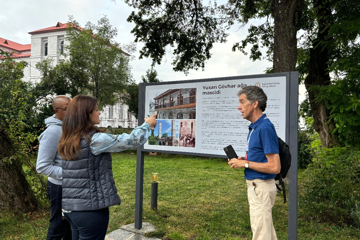
<svg viewBox="0 0 360 240"><path fill-rule="evenodd" d="M39 154L37 155L36 171L45 176L53 184L62 185L61 157L58 143L62 134L63 122L52 117L45 119L46 129L39 137Z"/></svg>

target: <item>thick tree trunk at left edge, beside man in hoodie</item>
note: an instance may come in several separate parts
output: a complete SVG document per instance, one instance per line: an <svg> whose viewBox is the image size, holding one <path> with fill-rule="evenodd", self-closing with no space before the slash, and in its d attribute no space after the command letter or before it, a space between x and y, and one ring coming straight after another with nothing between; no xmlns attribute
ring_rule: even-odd
<svg viewBox="0 0 360 240"><path fill-rule="evenodd" d="M13 147L0 131L0 159L11 156ZM0 164L0 210L32 212L37 209L37 199L27 182L19 160Z"/></svg>

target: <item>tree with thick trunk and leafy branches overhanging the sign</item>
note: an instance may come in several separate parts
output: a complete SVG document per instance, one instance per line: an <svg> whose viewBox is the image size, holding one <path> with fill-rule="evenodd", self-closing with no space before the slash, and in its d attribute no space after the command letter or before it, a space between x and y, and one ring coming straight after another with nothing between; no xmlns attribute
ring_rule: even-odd
<svg viewBox="0 0 360 240"><path fill-rule="evenodd" d="M301 17L304 0L229 0L227 4L204 5L201 0L172 0L148 2L126 0L138 9L127 19L136 26L131 31L135 41L144 42L140 58L150 57L153 64L160 64L166 47L174 48L174 71L204 68L211 58L214 42L225 42L230 26L238 22L245 26L252 18L266 18L258 27L249 28L248 42L254 44L252 52L259 55L258 41L269 47L268 57L273 59L275 72L294 71L296 65L296 20ZM274 21L272 24L271 21ZM234 44L243 49L239 43ZM260 53L261 55L261 53ZM270 55L273 55L271 57ZM256 56L254 56L256 58Z"/></svg>

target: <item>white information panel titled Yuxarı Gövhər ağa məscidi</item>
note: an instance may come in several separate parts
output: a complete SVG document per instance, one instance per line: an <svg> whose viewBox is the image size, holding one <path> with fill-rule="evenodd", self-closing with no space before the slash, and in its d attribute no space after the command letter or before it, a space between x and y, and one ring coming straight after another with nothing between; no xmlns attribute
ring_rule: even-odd
<svg viewBox="0 0 360 240"><path fill-rule="evenodd" d="M237 92L256 85L267 95L264 113L274 124L278 136L287 141L288 76L222 78L145 84L145 116L158 112L154 130L157 141L144 144L144 151L185 152L193 155L226 157L224 147L232 145L245 155L248 126L238 110ZM287 141L288 142L288 141Z"/></svg>

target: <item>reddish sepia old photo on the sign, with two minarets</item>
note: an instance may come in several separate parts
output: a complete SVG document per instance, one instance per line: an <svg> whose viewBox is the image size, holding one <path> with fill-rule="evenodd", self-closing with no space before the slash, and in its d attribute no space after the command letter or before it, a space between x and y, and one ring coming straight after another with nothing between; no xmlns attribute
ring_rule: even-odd
<svg viewBox="0 0 360 240"><path fill-rule="evenodd" d="M179 120L179 146L195 148L195 120Z"/></svg>

